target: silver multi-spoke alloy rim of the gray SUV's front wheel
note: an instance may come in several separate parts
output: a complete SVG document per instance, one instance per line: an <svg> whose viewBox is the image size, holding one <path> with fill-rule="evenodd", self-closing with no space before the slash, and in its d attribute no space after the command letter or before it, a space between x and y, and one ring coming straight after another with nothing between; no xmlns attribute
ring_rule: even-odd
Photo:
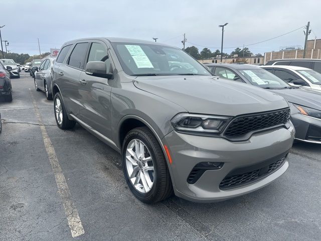
<svg viewBox="0 0 321 241"><path fill-rule="evenodd" d="M131 184L137 191L150 191L155 178L154 165L148 148L141 140L133 139L128 143L126 170Z"/></svg>

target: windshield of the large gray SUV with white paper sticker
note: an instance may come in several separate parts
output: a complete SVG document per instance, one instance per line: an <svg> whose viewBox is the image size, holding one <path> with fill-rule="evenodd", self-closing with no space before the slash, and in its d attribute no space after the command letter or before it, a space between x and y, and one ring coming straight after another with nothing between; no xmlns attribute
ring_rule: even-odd
<svg viewBox="0 0 321 241"><path fill-rule="evenodd" d="M128 75L212 75L181 49L153 44L112 43Z"/></svg>

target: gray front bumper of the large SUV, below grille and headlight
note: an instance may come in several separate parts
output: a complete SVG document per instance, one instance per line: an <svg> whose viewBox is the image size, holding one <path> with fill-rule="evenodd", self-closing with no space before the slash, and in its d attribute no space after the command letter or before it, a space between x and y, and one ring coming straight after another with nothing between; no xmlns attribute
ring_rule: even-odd
<svg viewBox="0 0 321 241"><path fill-rule="evenodd" d="M294 127L278 128L253 134L243 142L230 142L222 138L202 137L171 132L163 138L170 149L173 163L170 168L175 194L194 202L222 201L237 197L268 185L288 168L287 159L276 171L248 184L222 190L220 183L235 170L251 169L255 165L284 157L294 139ZM219 170L207 170L194 183L187 179L200 162L224 163Z"/></svg>

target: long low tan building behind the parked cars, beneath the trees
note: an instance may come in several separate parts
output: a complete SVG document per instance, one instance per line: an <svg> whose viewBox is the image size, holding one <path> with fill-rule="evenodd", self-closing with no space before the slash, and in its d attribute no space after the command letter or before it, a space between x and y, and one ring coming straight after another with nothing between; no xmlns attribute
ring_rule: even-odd
<svg viewBox="0 0 321 241"><path fill-rule="evenodd" d="M245 63L245 64L263 64L263 56L251 56L251 57L233 57L233 58L224 58L222 59L223 64L233 64L233 63ZM213 57L209 59L199 60L202 64L211 64L211 63L221 63L221 57Z"/></svg>

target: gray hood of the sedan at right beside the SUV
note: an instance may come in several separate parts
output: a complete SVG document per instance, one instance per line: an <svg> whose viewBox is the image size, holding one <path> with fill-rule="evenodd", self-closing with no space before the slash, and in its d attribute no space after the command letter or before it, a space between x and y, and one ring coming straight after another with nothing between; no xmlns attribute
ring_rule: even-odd
<svg viewBox="0 0 321 241"><path fill-rule="evenodd" d="M321 110L321 92L308 89L270 89L289 102Z"/></svg>

